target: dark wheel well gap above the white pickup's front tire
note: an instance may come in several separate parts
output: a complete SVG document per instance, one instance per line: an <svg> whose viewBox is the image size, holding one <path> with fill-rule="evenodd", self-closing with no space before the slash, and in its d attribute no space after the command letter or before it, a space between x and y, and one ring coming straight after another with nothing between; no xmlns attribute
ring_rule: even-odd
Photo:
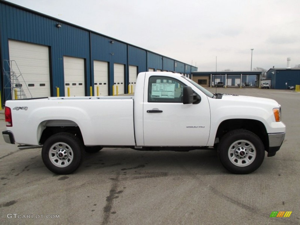
<svg viewBox="0 0 300 225"><path fill-rule="evenodd" d="M253 132L262 140L262 143L265 146L265 150L268 150L269 148L268 133L265 129L265 125L258 120L253 120L253 119L224 120L222 123L220 123L218 127L216 138L219 138L220 140L224 134L236 129L245 129Z"/></svg>

